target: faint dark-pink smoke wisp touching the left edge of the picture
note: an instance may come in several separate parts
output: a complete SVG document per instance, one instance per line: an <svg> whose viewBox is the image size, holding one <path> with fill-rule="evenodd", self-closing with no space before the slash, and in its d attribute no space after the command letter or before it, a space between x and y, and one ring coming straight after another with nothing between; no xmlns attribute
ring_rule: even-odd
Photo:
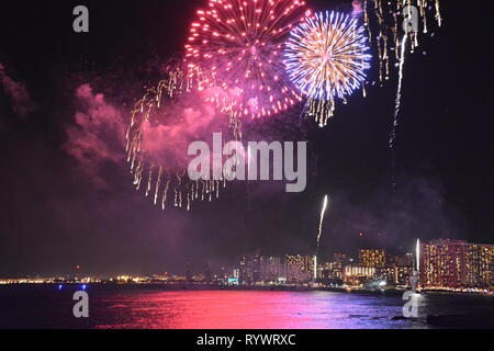
<svg viewBox="0 0 494 351"><path fill-rule="evenodd" d="M2 64L0 64L0 87L10 99L12 111L15 114L24 117L27 113L34 111L34 103L31 101L25 86L9 77Z"/></svg>

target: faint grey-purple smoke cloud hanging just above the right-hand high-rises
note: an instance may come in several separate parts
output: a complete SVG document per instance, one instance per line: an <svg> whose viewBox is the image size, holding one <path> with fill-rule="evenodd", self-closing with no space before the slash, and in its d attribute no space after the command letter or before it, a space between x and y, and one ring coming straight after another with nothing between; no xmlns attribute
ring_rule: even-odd
<svg viewBox="0 0 494 351"><path fill-rule="evenodd" d="M412 252L416 238L461 238L463 217L445 200L442 185L424 178L403 179L390 192L383 188L366 199L338 192L323 235L324 250L356 253L360 248L385 248Z"/></svg>

